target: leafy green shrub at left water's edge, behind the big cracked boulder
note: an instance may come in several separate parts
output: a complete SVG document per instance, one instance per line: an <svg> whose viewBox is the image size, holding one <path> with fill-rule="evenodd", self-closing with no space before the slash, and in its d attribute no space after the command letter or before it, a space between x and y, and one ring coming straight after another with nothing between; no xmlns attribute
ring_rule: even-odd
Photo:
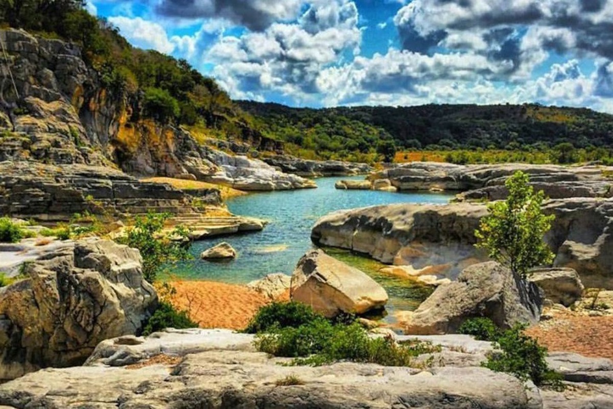
<svg viewBox="0 0 613 409"><path fill-rule="evenodd" d="M134 226L128 234L116 239L118 243L139 249L143 258L143 276L153 283L164 266L191 258L188 246L187 229L177 226L169 235L164 235L164 223L170 217L169 213L148 213L137 217Z"/></svg>

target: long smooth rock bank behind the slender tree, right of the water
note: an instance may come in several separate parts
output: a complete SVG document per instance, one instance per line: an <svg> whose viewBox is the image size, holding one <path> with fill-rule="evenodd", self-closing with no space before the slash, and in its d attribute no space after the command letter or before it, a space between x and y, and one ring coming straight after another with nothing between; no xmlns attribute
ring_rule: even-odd
<svg viewBox="0 0 613 409"><path fill-rule="evenodd" d="M613 199L555 200L544 211L556 216L545 237L555 254L554 266L575 269L587 287L613 288ZM441 266L440 273L454 278L485 260L473 244L474 230L486 214L485 205L470 203L359 208L322 217L311 239L386 263Z"/></svg>

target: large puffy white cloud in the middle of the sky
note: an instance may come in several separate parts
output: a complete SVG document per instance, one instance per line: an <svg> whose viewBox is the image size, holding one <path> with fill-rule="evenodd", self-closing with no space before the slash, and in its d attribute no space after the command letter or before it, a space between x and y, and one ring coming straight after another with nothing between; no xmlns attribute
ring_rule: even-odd
<svg viewBox="0 0 613 409"><path fill-rule="evenodd" d="M213 74L235 97L274 91L308 99L318 93L324 67L345 52L357 53L362 33L352 1L314 2L295 23L274 23L262 32L226 36L205 52Z"/></svg>

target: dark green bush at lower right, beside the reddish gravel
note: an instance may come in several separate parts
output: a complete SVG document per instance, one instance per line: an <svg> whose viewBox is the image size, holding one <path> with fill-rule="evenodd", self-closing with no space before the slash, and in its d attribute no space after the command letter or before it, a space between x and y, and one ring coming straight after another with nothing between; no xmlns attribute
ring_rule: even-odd
<svg viewBox="0 0 613 409"><path fill-rule="evenodd" d="M547 367L547 348L524 334L525 326L516 325L496 340L494 351L482 365L497 372L506 372L522 381L532 380L536 386L548 385L563 389L562 375Z"/></svg>

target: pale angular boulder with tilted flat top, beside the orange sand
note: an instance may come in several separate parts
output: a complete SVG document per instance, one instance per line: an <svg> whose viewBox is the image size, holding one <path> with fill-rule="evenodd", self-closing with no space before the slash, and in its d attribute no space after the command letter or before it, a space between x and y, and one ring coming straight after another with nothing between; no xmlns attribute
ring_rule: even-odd
<svg viewBox="0 0 613 409"><path fill-rule="evenodd" d="M322 250L308 251L298 262L291 298L329 317L363 314L387 303L386 291L375 280Z"/></svg>

